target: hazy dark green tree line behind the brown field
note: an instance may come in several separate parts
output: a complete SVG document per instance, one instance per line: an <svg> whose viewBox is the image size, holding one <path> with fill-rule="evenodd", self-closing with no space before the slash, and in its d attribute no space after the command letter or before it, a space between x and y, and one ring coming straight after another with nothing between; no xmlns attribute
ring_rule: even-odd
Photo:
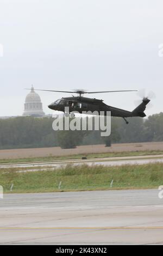
<svg viewBox="0 0 163 256"><path fill-rule="evenodd" d="M111 119L111 136L101 137L101 131L54 131L54 118L15 117L0 119L0 149L61 147L77 145L163 141L163 113L147 119Z"/></svg>

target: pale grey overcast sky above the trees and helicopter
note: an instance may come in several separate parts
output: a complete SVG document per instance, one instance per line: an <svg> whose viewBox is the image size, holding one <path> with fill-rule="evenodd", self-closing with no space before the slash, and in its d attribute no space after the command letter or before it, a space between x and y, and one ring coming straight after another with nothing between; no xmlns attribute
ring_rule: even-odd
<svg viewBox="0 0 163 256"><path fill-rule="evenodd" d="M0 0L0 116L21 115L28 91L153 90L162 109L162 0ZM40 92L43 109L65 94ZM68 96L68 94L66 95ZM95 95L90 95L95 97ZM133 110L135 93L99 94Z"/></svg>

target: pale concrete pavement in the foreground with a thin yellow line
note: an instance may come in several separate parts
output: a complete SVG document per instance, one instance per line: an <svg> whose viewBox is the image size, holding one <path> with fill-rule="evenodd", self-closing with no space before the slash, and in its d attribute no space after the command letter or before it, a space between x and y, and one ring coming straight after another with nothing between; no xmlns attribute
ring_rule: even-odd
<svg viewBox="0 0 163 256"><path fill-rule="evenodd" d="M0 199L0 243L163 244L163 199L158 193L4 194Z"/></svg>

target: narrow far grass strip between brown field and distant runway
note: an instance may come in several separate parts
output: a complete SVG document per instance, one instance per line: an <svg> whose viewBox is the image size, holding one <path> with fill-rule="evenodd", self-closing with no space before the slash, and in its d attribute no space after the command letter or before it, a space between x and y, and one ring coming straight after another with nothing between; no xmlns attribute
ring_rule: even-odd
<svg viewBox="0 0 163 256"><path fill-rule="evenodd" d="M98 159L104 157L125 157L125 156L155 156L163 155L163 150L146 150L146 151L131 151L131 152L119 152L119 153L96 153L96 154L78 154L67 156L45 156L45 157L26 157L20 159L0 159L0 163L28 163L28 162L48 162L59 160L72 160L81 159L86 156L88 159Z"/></svg>

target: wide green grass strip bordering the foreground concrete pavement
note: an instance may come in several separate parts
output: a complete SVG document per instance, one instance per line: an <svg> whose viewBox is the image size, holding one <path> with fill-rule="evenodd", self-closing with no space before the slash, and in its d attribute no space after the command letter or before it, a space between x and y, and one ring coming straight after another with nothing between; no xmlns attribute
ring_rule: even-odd
<svg viewBox="0 0 163 256"><path fill-rule="evenodd" d="M121 167L70 165L55 171L24 173L18 170L1 168L0 185L4 193L10 192L12 184L14 193L158 188L163 185L162 163Z"/></svg>

